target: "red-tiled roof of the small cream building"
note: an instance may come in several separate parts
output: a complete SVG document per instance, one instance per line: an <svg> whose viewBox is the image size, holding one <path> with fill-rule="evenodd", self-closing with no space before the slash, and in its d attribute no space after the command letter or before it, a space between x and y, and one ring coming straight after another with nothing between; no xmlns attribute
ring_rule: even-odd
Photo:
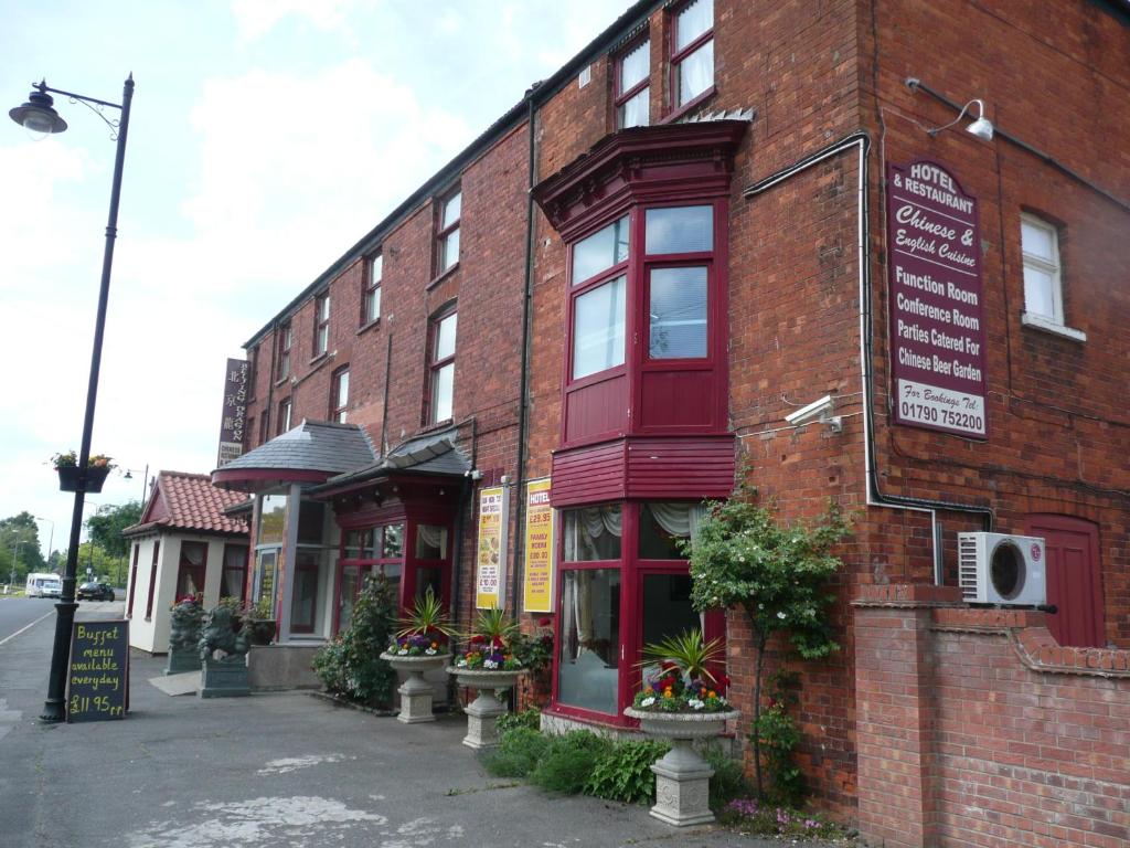
<svg viewBox="0 0 1130 848"><path fill-rule="evenodd" d="M238 492L214 486L207 474L159 471L157 486L144 513L150 520L127 527L122 534L134 536L155 529L245 534L245 519L225 514L227 508L243 500L245 496Z"/></svg>

